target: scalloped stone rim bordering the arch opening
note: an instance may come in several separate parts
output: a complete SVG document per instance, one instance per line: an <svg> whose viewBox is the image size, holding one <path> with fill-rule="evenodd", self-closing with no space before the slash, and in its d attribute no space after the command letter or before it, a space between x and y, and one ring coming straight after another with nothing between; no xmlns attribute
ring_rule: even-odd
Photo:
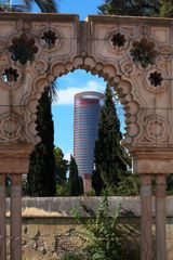
<svg viewBox="0 0 173 260"><path fill-rule="evenodd" d="M56 78L79 68L90 72L92 75L98 75L99 77L103 77L109 86L117 86L116 90L119 100L124 107L127 119L127 132L123 139L123 144L127 146L130 145L133 142L133 139L138 134L136 114L138 113L139 108L138 102L133 96L132 82L128 79L121 79L121 76L117 74L117 67L112 64L102 64L101 62L96 62L94 57L83 58L82 56L77 56L72 60L72 62L54 63L51 65L51 73L46 77L43 76L36 78L32 83L32 94L29 96L28 101L26 101L26 104L29 107L29 113L31 113L30 120L28 123L26 123L26 131L28 132L28 135L29 130L30 135L31 133L35 135L37 134L35 131L37 118L36 113L38 101L41 98L44 89ZM39 141L40 139L37 136L37 139L35 139L35 142Z"/></svg>

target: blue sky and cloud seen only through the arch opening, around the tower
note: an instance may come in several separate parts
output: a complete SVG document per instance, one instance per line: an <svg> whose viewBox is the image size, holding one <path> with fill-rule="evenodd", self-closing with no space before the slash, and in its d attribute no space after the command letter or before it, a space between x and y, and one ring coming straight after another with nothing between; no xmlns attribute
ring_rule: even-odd
<svg viewBox="0 0 173 260"><path fill-rule="evenodd" d="M91 73L86 74L84 69L76 69L75 72L57 79L57 99L52 106L55 127L54 139L55 146L58 146L63 151L64 159L69 160L69 155L74 154L75 94L81 91L98 91L104 93L107 84L106 81L104 82L102 77L98 78L98 76L93 76ZM124 112L122 105L118 102L118 95L115 92L112 92L112 94L117 107L117 114L121 121L121 132L123 132Z"/></svg>

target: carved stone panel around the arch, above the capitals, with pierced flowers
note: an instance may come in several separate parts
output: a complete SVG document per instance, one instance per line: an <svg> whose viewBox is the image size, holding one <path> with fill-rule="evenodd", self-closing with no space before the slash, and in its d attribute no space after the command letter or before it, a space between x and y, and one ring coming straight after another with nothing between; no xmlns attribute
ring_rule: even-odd
<svg viewBox="0 0 173 260"><path fill-rule="evenodd" d="M3 14L0 20L0 91L3 93L3 98L0 96L0 117L13 112L16 118L22 119L22 125L15 133L8 130L9 122L3 122L3 142L39 142L36 113L44 88L55 78L83 68L104 77L117 90L125 112L124 145L170 145L171 23L163 26L149 18L138 18L136 23L133 17L89 16L84 24L80 24L77 15L8 15L5 18ZM29 42L32 39L32 47L37 49L31 61L28 58L24 65L12 58L9 49L23 35ZM132 55L133 49L143 43L147 51L150 48L146 66ZM150 53L154 54L152 60ZM10 80L4 78L4 72L12 73ZM14 120L10 125L14 125Z"/></svg>

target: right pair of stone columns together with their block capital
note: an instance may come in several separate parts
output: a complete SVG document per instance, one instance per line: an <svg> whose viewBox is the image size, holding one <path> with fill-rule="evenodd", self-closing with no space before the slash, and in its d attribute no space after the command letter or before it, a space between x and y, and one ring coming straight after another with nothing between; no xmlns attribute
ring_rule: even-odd
<svg viewBox="0 0 173 260"><path fill-rule="evenodd" d="M133 154L133 170L142 178L141 260L151 259L151 176L156 178L156 260L167 260L165 174L173 172L173 152L169 148L138 151Z"/></svg>

